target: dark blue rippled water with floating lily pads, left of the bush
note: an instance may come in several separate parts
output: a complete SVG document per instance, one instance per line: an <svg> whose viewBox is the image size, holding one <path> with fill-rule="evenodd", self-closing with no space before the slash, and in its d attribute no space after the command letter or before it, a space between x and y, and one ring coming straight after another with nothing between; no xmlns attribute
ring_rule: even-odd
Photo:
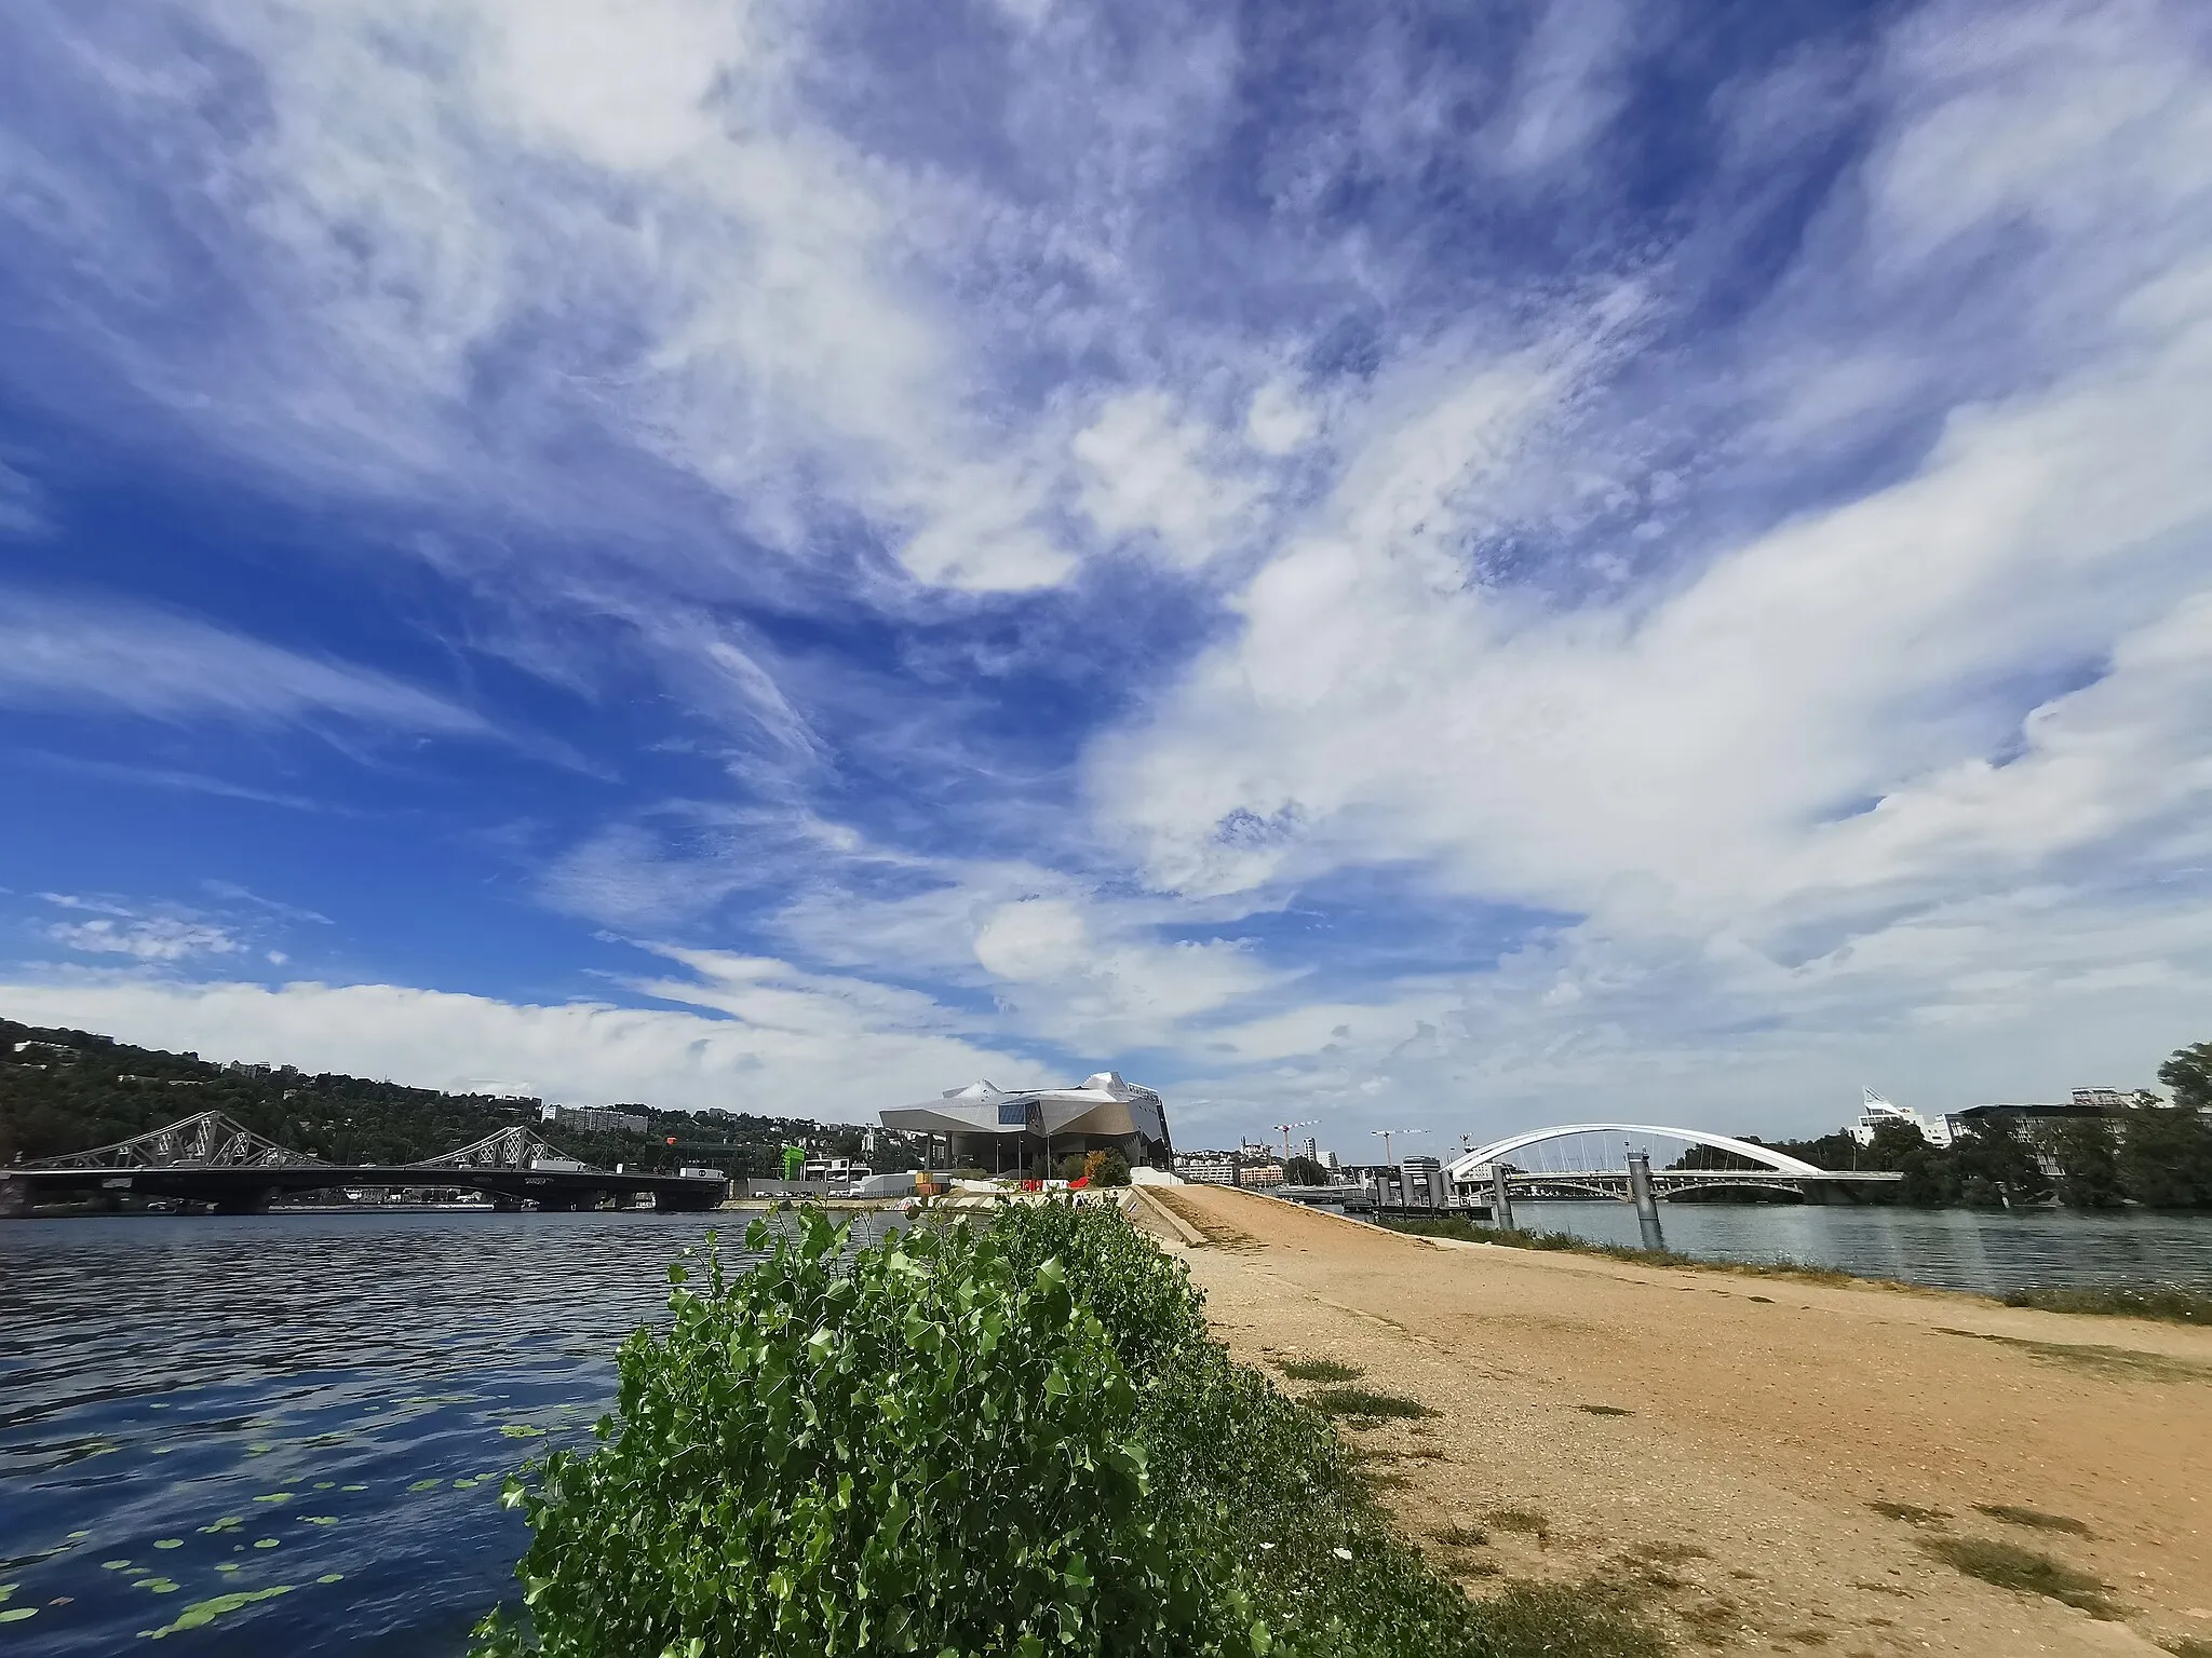
<svg viewBox="0 0 2212 1658"><path fill-rule="evenodd" d="M526 1541L502 1475L717 1220L0 1222L0 1649L458 1654Z"/></svg>

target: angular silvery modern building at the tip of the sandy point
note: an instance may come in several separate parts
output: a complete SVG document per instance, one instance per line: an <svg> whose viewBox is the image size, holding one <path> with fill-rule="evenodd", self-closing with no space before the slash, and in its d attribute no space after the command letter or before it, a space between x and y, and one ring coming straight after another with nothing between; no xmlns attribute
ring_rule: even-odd
<svg viewBox="0 0 2212 1658"><path fill-rule="evenodd" d="M907 1134L942 1134L956 1167L1013 1174L1068 1152L1113 1147L1137 1167L1168 1167L1168 1112L1159 1094L1102 1070L1075 1088L1004 1090L995 1083L947 1088L938 1099L894 1105L883 1125Z"/></svg>

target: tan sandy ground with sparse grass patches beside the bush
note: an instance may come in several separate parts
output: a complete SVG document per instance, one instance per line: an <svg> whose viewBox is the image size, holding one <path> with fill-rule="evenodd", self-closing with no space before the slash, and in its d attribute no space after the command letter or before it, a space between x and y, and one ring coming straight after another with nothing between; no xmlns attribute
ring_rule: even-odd
<svg viewBox="0 0 2212 1658"><path fill-rule="evenodd" d="M1688 1649L2212 1654L2212 1331L1148 1196L1239 1357L1279 1379L1287 1357L1343 1360L1438 1413L1347 1435L1473 1594L1604 1581ZM1486 1541L1431 1539L1451 1525ZM1962 1576L1927 1550L1944 1536L2048 1554L2121 1616Z"/></svg>

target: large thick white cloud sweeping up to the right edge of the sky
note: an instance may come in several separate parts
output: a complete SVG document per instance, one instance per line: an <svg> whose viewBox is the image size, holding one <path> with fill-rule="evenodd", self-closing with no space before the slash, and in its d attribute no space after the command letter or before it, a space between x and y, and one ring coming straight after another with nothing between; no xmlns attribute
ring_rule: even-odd
<svg viewBox="0 0 2212 1658"><path fill-rule="evenodd" d="M2179 146L2194 119L2168 106L2159 130ZM2099 135L2081 148L2101 155ZM2101 172L2112 217L2146 190L2177 199L2177 168L2212 188L2212 146L2192 157L2154 188ZM2212 256L2212 217L2194 225ZM2106 283L2104 259L2081 281ZM2059 252L2039 270L2077 274ZM2015 738L2022 703L1997 688L2115 650L2121 674L2157 657L2161 683L2192 683L2177 657L2201 654L2197 628L2128 643L2208 590L2212 283L2190 270L2148 259L2099 360L1955 409L1916 475L1610 601L1471 579L1469 537L1511 526L1531 475L1573 486L1540 438L1579 396L1571 349L1478 365L1356 453L1239 595L1241 632L1093 754L1093 798L1183 891L1418 860L1460 891L1568 911L1608 909L1626 878L1701 924L1805 902L1829 880L1814 844L1885 831L1924 780ZM2172 809L2199 787L2181 763L2197 747L2170 738L2148 789L2106 772L2075 844L2152 798ZM1823 829L1885 796L1900 805L1869 829ZM1918 869L1929 893L1980 862L1940 840Z"/></svg>

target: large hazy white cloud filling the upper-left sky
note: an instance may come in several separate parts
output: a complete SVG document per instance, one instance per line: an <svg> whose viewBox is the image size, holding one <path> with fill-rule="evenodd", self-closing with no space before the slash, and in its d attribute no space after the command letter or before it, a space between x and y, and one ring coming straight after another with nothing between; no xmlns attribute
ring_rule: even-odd
<svg viewBox="0 0 2212 1658"><path fill-rule="evenodd" d="M703 570L655 531L708 520L624 455L697 478L801 559L858 517L929 584L1029 590L1077 566L1071 433L993 363L1068 301L1000 309L1018 279L991 265L1084 259L1082 212L1024 214L843 135L807 13L257 0L35 22L27 40L137 141L128 179L106 148L0 141L0 177L46 203L31 245L102 272L84 312L173 312L80 345L254 466L588 524L677 581ZM1201 64L1175 57L1097 117L1183 113L1217 80ZM215 325L184 314L206 294L175 281L139 195L221 248L234 305ZM582 469L580 433L602 440Z"/></svg>

